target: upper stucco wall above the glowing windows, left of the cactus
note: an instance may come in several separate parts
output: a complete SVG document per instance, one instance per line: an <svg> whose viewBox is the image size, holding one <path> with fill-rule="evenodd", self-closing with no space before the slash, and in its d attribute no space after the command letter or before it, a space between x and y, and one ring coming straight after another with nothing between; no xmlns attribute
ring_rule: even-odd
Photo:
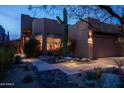
<svg viewBox="0 0 124 93"><path fill-rule="evenodd" d="M59 24L56 20L41 18L41 19L34 19L32 24L32 34L55 34L61 35L62 32L62 25Z"/></svg>

